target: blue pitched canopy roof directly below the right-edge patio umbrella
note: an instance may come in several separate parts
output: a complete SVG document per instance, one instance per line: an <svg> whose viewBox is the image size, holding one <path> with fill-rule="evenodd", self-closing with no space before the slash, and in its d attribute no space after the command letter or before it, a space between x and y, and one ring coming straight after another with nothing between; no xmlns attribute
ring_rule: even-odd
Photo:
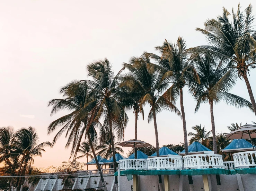
<svg viewBox="0 0 256 191"><path fill-rule="evenodd" d="M253 145L245 139L234 139L229 145L222 149L223 152L253 150Z"/></svg>

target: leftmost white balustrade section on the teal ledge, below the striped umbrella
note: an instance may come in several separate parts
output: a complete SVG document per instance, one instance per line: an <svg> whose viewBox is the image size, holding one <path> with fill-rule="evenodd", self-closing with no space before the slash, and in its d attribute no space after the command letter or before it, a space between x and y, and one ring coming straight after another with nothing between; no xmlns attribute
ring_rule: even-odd
<svg viewBox="0 0 256 191"><path fill-rule="evenodd" d="M120 170L148 169L147 159L123 159L119 160Z"/></svg>

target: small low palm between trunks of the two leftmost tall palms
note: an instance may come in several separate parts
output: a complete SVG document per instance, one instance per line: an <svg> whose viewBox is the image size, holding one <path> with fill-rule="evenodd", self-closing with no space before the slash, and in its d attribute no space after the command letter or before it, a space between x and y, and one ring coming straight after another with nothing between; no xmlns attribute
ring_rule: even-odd
<svg viewBox="0 0 256 191"><path fill-rule="evenodd" d="M114 142L115 142L115 135L114 135ZM120 144L121 142L115 142L114 146L115 146L115 154L117 152L121 152L124 153L124 150L121 147L118 147L117 145ZM102 155L105 159L111 158L113 156L113 152L112 152L112 143L111 143L111 138L108 134L108 136L104 139L100 140L99 145L96 147L95 149L96 151L98 151L97 155Z"/></svg>

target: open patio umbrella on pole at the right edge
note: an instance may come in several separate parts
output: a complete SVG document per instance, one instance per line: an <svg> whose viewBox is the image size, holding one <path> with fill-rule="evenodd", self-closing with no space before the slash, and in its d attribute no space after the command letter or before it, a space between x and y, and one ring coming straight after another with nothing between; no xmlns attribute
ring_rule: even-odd
<svg viewBox="0 0 256 191"><path fill-rule="evenodd" d="M229 139L250 139L256 138L256 125L245 124L241 127L237 128L234 131L226 134L226 137ZM253 141L251 140L251 144L253 145ZM254 150L254 146L253 146Z"/></svg>

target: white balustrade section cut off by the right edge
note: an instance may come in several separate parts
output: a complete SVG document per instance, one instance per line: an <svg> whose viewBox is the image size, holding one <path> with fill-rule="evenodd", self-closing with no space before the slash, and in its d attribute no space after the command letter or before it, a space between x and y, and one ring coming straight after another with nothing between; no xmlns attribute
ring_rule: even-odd
<svg viewBox="0 0 256 191"><path fill-rule="evenodd" d="M235 168L256 166L256 151L238 152L233 154Z"/></svg>

